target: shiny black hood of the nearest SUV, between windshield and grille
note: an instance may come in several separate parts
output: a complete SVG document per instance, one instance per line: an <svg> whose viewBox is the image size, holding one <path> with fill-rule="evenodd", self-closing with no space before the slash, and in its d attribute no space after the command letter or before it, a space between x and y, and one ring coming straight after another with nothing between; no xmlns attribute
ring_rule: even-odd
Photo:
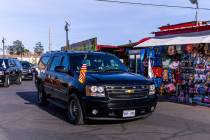
<svg viewBox="0 0 210 140"><path fill-rule="evenodd" d="M97 72L87 73L87 84L97 85L148 85L151 80L130 72Z"/></svg>

